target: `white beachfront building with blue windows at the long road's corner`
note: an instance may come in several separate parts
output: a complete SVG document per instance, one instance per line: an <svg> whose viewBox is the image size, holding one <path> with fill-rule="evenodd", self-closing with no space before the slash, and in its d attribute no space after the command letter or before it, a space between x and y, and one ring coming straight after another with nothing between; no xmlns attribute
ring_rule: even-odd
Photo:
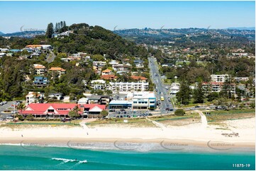
<svg viewBox="0 0 256 171"><path fill-rule="evenodd" d="M156 106L154 92L133 93L133 110L155 110Z"/></svg>

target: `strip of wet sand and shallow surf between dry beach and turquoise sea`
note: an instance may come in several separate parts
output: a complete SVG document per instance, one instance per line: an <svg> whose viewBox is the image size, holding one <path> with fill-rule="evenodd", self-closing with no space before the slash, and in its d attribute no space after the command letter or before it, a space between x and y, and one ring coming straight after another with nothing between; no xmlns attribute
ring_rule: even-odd
<svg viewBox="0 0 256 171"><path fill-rule="evenodd" d="M41 148L73 148L96 151L137 151L137 152L209 152L234 153L255 152L253 142L194 141L190 139L141 139L141 138L1 138L0 146L21 146L37 151Z"/></svg>

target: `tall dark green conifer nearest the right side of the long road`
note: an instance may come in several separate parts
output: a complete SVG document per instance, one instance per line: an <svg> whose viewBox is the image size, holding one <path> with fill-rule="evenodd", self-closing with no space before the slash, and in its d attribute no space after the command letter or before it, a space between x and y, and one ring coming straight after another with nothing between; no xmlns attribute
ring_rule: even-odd
<svg viewBox="0 0 256 171"><path fill-rule="evenodd" d="M190 89L189 89L189 83L187 81L181 81L179 92L176 94L177 100L181 102L181 105L187 105L189 104L190 99Z"/></svg>

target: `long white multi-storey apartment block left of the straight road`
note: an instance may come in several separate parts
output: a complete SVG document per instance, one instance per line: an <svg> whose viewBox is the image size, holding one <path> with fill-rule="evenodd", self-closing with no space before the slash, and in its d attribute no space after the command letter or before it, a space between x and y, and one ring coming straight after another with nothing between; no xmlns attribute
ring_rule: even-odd
<svg viewBox="0 0 256 171"><path fill-rule="evenodd" d="M149 83L147 82L110 82L108 89L111 90L113 93L118 93L121 91L145 91L148 90Z"/></svg>

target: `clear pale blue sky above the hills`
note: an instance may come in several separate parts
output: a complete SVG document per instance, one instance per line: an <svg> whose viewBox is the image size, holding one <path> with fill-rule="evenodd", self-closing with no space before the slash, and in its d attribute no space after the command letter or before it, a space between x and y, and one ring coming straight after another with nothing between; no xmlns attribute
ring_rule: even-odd
<svg viewBox="0 0 256 171"><path fill-rule="evenodd" d="M3 33L61 20L108 30L255 27L255 1L0 1L0 8Z"/></svg>

